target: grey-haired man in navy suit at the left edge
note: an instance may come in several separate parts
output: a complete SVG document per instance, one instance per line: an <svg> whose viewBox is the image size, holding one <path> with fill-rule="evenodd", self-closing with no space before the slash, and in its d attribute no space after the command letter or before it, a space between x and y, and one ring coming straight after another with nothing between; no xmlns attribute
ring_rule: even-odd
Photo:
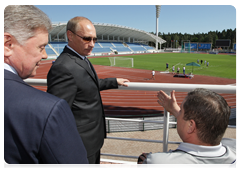
<svg viewBox="0 0 240 170"><path fill-rule="evenodd" d="M86 168L67 102L23 81L36 75L51 21L32 5L4 6L4 167Z"/></svg>

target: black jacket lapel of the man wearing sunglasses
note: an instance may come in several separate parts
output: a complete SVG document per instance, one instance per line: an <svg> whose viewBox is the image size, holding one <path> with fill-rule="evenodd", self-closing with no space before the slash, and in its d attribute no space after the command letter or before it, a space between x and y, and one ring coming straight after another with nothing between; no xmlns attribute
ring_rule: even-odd
<svg viewBox="0 0 240 170"><path fill-rule="evenodd" d="M68 53L70 58L74 59L78 65L83 67L88 72L88 74L92 77L92 79L96 82L96 84L98 85L98 81L97 81L98 77L97 77L96 71L95 71L94 67L92 66L91 62L89 62L89 63L92 67L92 70L89 68L86 61L84 61L81 57L79 57L78 54L76 54L74 51L70 50L69 48L65 47L63 50L63 53ZM92 71L94 72L95 75L93 75Z"/></svg>

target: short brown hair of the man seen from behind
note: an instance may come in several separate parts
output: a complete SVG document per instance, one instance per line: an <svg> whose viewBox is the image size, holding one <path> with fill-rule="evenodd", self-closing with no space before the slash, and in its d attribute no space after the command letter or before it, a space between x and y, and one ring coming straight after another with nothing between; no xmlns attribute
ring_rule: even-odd
<svg viewBox="0 0 240 170"><path fill-rule="evenodd" d="M194 120L198 138L204 143L218 145L228 127L231 109L219 94L198 88L188 93L184 120Z"/></svg>

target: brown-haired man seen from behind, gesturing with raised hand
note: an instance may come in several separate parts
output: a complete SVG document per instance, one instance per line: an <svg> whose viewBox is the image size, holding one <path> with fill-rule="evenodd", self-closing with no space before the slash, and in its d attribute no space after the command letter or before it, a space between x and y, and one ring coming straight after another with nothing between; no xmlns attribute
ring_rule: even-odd
<svg viewBox="0 0 240 170"><path fill-rule="evenodd" d="M238 157L238 140L223 138L231 113L219 94L195 89L188 93L181 106L175 91L168 96L157 94L158 103L177 118L177 132L182 143L176 150L143 153L138 159L141 168L228 168Z"/></svg>

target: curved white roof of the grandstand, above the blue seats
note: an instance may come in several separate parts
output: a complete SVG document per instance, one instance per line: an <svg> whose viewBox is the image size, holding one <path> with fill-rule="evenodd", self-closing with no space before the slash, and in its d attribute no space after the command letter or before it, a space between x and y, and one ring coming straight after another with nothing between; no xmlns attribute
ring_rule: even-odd
<svg viewBox="0 0 240 170"><path fill-rule="evenodd" d="M123 37L125 39L130 37L135 41L156 42L157 40L161 44L166 42L165 40L163 40L160 37L157 37L156 35L153 35L146 31L135 29L135 28L114 25L114 24L103 24L103 23L93 23L93 25L96 28L98 37L99 35L104 35L104 36ZM58 41L58 39L67 41L66 34L65 34L67 23L58 23L58 24L53 24L52 26L53 28L49 31L50 41Z"/></svg>

